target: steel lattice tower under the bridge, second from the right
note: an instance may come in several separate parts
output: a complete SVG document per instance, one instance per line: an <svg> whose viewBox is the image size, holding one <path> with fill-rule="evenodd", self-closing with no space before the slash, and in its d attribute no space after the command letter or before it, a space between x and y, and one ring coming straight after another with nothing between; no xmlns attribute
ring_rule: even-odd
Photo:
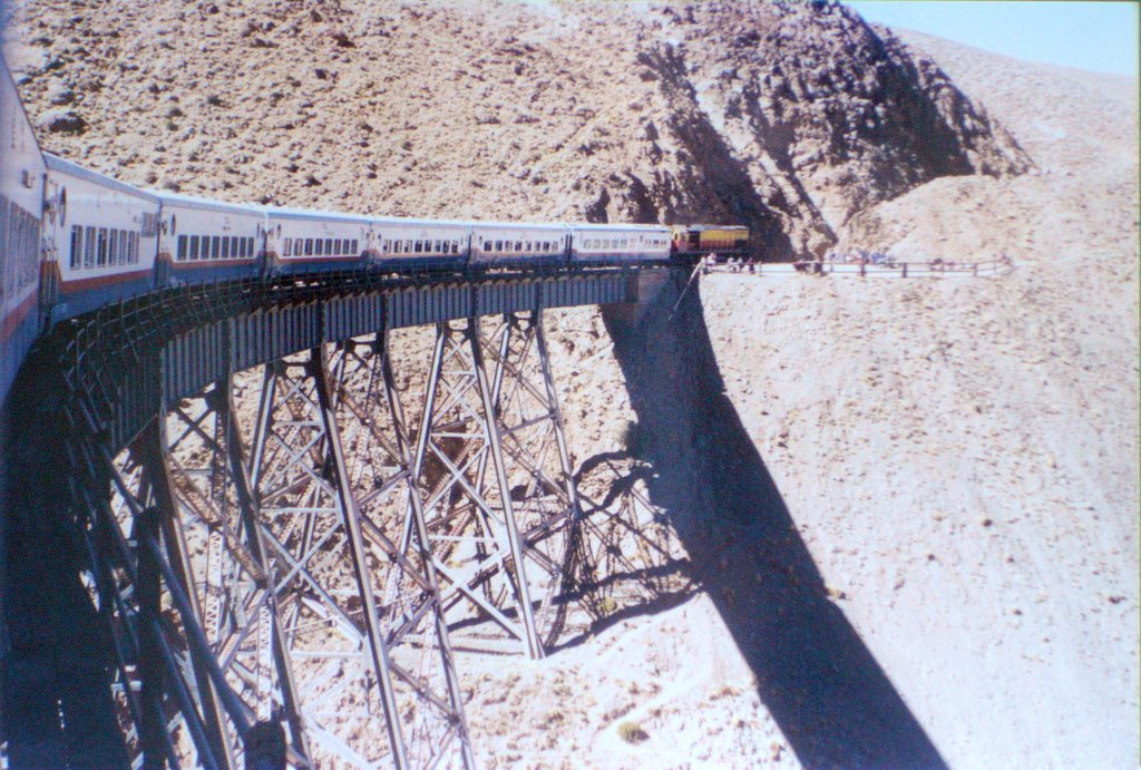
<svg viewBox="0 0 1141 770"><path fill-rule="evenodd" d="M283 634L315 746L472 765L391 382L383 337L341 345L332 366L318 348L266 367L251 480Z"/></svg>

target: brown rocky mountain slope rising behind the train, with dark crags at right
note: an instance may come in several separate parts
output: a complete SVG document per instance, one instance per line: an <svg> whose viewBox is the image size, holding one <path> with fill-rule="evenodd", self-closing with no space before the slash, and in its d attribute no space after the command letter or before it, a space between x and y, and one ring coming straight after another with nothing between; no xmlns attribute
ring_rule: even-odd
<svg viewBox="0 0 1141 770"><path fill-rule="evenodd" d="M832 3L58 0L16 24L51 149L235 200L731 220L790 258L930 179L1031 165L932 60Z"/></svg>

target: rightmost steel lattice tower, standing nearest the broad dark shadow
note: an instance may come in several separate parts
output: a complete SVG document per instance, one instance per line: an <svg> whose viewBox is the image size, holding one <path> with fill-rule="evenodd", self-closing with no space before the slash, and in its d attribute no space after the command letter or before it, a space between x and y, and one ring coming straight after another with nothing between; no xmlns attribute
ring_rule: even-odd
<svg viewBox="0 0 1141 770"><path fill-rule="evenodd" d="M541 657L581 513L539 311L437 326L412 470L455 642Z"/></svg>

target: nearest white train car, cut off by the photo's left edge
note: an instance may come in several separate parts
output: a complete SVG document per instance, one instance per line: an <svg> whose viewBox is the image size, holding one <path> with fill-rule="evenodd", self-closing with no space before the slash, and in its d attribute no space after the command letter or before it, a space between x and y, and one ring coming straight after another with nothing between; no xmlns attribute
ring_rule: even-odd
<svg viewBox="0 0 1141 770"><path fill-rule="evenodd" d="M40 326L43 173L35 133L0 56L0 402Z"/></svg>

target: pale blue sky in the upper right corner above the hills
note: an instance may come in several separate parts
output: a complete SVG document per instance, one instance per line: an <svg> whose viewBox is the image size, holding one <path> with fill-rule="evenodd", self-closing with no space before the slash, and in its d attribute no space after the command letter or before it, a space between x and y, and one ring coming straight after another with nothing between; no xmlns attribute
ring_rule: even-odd
<svg viewBox="0 0 1141 770"><path fill-rule="evenodd" d="M1138 8L1038 0L850 0L865 21L1066 67L1138 74Z"/></svg>

